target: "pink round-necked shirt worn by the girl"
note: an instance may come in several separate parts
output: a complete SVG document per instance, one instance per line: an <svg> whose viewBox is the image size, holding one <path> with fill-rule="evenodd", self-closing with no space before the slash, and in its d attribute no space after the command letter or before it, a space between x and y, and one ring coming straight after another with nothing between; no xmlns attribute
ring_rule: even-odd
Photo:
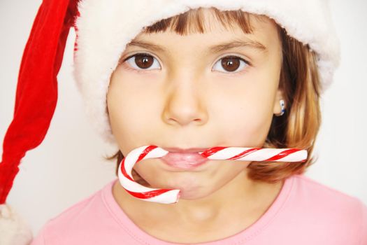
<svg viewBox="0 0 367 245"><path fill-rule="evenodd" d="M172 244L148 235L124 214L112 194L115 181L48 221L31 245ZM307 176L292 176L249 228L201 244L367 245L367 207Z"/></svg>

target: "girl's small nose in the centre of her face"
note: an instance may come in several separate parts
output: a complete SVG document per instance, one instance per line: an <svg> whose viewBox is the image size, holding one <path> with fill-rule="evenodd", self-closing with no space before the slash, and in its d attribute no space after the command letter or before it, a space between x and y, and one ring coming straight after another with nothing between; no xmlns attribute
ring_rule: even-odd
<svg viewBox="0 0 367 245"><path fill-rule="evenodd" d="M203 125L208 120L205 91L193 76L171 78L166 86L162 117L169 125Z"/></svg>

